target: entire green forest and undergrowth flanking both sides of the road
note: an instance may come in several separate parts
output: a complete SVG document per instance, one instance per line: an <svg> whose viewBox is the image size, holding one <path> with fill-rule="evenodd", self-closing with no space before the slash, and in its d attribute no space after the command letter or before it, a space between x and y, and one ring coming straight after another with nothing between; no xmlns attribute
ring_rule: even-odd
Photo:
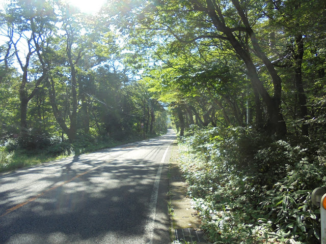
<svg viewBox="0 0 326 244"><path fill-rule="evenodd" d="M9 0L0 22L2 165L171 120L211 241L320 239L309 194L325 186L324 0L108 0L96 14Z"/></svg>

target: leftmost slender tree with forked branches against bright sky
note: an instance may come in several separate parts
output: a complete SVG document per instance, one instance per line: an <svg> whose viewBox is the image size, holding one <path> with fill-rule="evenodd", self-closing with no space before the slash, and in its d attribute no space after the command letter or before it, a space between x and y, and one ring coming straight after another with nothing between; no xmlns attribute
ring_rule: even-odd
<svg viewBox="0 0 326 244"><path fill-rule="evenodd" d="M8 60L10 49L13 48L22 72L19 86L21 140L24 140L28 131L28 104L38 93L39 86L47 75L44 72L32 74L30 66L38 69L37 50L52 35L55 18L49 1L39 3L24 0L11 1L3 18L8 38L5 60ZM21 45L25 48L24 54L19 50ZM8 64L6 66L8 67Z"/></svg>

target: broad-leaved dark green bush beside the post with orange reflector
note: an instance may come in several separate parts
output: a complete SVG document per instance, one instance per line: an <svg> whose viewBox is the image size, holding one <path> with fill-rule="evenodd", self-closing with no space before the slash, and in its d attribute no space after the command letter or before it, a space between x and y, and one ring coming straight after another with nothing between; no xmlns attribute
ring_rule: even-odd
<svg viewBox="0 0 326 244"><path fill-rule="evenodd" d="M320 212L311 203L311 192L316 187L325 187L326 170L303 158L294 166L287 165L286 171L287 176L264 193L266 200L260 203L261 209L273 220L275 236L316 243L316 238L320 238Z"/></svg>

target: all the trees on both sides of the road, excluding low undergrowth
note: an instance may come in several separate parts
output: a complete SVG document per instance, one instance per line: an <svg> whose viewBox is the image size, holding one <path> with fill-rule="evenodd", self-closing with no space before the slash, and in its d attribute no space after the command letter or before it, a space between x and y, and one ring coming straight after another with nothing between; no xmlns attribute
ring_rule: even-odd
<svg viewBox="0 0 326 244"><path fill-rule="evenodd" d="M309 136L323 118L324 5L108 1L90 15L8 1L2 140L141 134L142 124L153 134L165 104L181 136L191 124Z"/></svg>

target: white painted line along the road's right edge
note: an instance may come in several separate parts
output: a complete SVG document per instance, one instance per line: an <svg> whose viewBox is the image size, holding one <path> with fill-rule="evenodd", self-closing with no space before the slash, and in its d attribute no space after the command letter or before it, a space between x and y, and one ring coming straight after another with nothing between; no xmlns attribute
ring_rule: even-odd
<svg viewBox="0 0 326 244"><path fill-rule="evenodd" d="M148 234L149 234L149 240L146 243L152 244L153 243L153 238L154 238L154 226L155 226L155 218L156 218L156 204L157 204L157 196L158 196L158 186L159 186L159 181L161 178L161 173L162 173L162 168L163 168L163 163L165 161L165 158L167 157L168 150L169 150L170 145L168 148L165 150L165 153L162 157L162 160L160 162L159 168L157 170L157 174L155 177L154 181L154 187L151 195L151 200L149 202L149 220L147 223L147 228L148 229Z"/></svg>

